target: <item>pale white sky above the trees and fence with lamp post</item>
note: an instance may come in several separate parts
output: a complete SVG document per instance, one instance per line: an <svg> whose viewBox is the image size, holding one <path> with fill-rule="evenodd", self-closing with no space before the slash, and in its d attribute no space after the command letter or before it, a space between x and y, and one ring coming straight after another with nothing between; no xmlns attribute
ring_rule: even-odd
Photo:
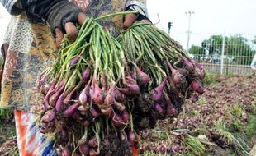
<svg viewBox="0 0 256 156"><path fill-rule="evenodd" d="M256 35L256 0L148 0L149 18L168 32L168 22L173 22L170 35L187 47L188 15L191 16L190 45L200 45L211 34L242 34L248 39ZM158 17L159 16L159 17ZM9 16L0 7L0 43Z"/></svg>

